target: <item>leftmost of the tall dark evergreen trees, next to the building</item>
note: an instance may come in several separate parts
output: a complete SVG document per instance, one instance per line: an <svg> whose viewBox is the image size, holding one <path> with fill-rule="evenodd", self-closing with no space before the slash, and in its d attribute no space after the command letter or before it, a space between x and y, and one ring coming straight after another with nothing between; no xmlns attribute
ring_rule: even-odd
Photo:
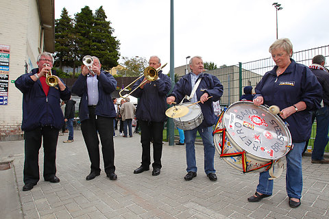
<svg viewBox="0 0 329 219"><path fill-rule="evenodd" d="M62 66L73 67L75 40L73 34L73 20L66 8L63 8L59 19L55 21L55 66L62 70Z"/></svg>

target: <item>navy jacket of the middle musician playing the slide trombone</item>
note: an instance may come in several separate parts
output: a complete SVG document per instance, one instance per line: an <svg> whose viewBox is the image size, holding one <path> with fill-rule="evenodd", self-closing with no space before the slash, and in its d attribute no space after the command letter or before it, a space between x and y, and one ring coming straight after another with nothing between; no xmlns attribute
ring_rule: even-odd
<svg viewBox="0 0 329 219"><path fill-rule="evenodd" d="M158 72L159 79L146 83L144 88L137 88L132 96L139 98L136 118L139 120L147 120L154 122L163 122L167 119L167 93L171 89L171 79L162 74L162 70ZM134 83L132 90L134 90L142 81L144 77L141 77Z"/></svg>

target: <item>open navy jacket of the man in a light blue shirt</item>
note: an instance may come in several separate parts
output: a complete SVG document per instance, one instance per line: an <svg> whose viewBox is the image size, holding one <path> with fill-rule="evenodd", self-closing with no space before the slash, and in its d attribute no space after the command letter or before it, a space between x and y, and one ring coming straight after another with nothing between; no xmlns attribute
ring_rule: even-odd
<svg viewBox="0 0 329 219"><path fill-rule="evenodd" d="M98 103L95 109L95 115L104 117L116 117L117 114L114 109L111 93L117 88L117 80L101 69L101 74L97 76L98 80ZM80 121L89 118L88 110L88 90L87 90L87 76L79 75L77 81L72 86L72 92L81 97L79 105Z"/></svg>

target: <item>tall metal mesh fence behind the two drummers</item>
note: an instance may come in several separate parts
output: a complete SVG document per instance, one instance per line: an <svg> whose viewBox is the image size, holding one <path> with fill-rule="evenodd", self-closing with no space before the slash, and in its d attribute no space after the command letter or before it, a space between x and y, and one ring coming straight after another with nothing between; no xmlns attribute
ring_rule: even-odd
<svg viewBox="0 0 329 219"><path fill-rule="evenodd" d="M310 66L315 55L324 55L326 60L329 56L329 45L297 51L293 53L295 62ZM221 81L224 87L223 96L221 97L221 106L228 106L231 103L239 101L239 96L243 94L245 86L256 87L257 83L263 75L275 66L271 57L252 62L236 64L234 66L226 66L223 68L208 70L206 73L215 75ZM326 66L328 67L328 66ZM316 121L313 124L312 134L308 145L313 146L316 132ZM326 151L329 151L329 146L326 146Z"/></svg>

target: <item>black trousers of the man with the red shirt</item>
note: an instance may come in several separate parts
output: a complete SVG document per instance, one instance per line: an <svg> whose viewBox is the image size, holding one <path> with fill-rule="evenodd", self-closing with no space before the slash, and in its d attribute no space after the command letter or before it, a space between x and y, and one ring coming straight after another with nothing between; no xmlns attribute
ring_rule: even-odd
<svg viewBox="0 0 329 219"><path fill-rule="evenodd" d="M24 131L25 139L25 161L23 181L37 183L39 175L39 150L43 138L44 164L43 178L49 179L56 175L56 148L58 140L58 129L52 127L39 127L32 131Z"/></svg>

